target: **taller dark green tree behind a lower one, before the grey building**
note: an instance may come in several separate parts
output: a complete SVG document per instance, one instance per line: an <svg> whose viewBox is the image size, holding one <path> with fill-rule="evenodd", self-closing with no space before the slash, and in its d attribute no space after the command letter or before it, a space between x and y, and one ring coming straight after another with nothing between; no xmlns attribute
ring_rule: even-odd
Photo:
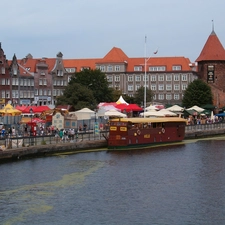
<svg viewBox="0 0 225 225"><path fill-rule="evenodd" d="M109 88L106 75L99 69L84 69L81 72L75 73L69 85L73 83L79 83L92 90L97 104L100 102L111 102L113 100L112 88Z"/></svg>

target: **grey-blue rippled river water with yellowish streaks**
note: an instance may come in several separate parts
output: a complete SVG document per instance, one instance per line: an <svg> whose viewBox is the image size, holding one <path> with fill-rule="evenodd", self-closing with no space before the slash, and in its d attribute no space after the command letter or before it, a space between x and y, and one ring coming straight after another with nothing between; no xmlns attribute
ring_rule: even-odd
<svg viewBox="0 0 225 225"><path fill-rule="evenodd" d="M0 164L0 224L225 224L225 137Z"/></svg>

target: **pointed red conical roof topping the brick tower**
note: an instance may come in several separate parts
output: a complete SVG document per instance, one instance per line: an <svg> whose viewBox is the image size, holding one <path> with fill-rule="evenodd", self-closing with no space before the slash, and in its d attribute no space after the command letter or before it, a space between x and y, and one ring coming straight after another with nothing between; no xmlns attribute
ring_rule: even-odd
<svg viewBox="0 0 225 225"><path fill-rule="evenodd" d="M225 50L213 30L209 35L201 54L196 59L196 62L215 60L225 60Z"/></svg>

